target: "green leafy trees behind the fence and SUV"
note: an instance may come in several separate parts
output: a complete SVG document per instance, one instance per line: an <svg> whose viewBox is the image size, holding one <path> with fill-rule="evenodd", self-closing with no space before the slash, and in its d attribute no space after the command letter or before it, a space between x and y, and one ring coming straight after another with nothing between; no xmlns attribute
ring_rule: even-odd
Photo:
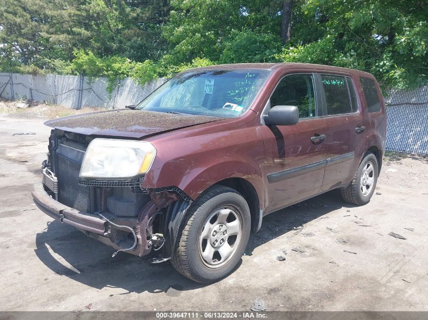
<svg viewBox="0 0 428 320"><path fill-rule="evenodd" d="M2 0L0 71L144 83L219 63L308 62L373 73L385 85L428 79L424 0Z"/></svg>

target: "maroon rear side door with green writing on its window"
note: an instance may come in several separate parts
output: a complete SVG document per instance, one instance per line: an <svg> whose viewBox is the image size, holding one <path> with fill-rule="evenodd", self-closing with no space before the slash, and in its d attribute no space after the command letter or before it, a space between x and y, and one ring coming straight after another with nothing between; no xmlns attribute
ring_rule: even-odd
<svg viewBox="0 0 428 320"><path fill-rule="evenodd" d="M347 185L364 152L365 128L354 80L340 74L318 74L327 122L327 164L321 192Z"/></svg>

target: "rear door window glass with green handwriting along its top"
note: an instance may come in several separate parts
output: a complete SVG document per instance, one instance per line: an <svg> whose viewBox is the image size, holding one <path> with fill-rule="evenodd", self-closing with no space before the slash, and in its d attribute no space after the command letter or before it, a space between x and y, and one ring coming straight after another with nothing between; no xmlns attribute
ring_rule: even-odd
<svg viewBox="0 0 428 320"><path fill-rule="evenodd" d="M353 112L345 77L321 75L321 81L324 86L328 115Z"/></svg>

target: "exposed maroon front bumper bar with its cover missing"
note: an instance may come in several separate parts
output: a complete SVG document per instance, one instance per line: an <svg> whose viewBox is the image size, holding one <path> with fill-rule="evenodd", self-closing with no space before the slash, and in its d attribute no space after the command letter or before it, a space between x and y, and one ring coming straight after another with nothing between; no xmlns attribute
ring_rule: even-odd
<svg viewBox="0 0 428 320"><path fill-rule="evenodd" d="M113 226L108 221L89 213L80 212L79 210L63 205L52 199L45 191L42 183L38 182L34 185L34 191L31 195L34 204L55 220L69 224L77 230L84 232L88 236L116 250L123 250L127 247L126 245L122 245L124 243L124 237L118 238L118 234L124 234L124 228ZM145 230L140 230L141 228L137 219L127 219L124 221L115 219L114 223L129 226L133 228L136 233L138 239L137 246L133 250L127 251L128 253L141 257L151 251L146 241ZM142 241L142 239L144 239L144 241Z"/></svg>

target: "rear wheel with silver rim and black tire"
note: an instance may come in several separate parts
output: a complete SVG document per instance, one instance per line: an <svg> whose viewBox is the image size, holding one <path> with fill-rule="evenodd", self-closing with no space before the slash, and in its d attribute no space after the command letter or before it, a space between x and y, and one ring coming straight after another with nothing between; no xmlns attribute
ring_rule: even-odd
<svg viewBox="0 0 428 320"><path fill-rule="evenodd" d="M369 172L370 170L370 173L363 176L365 172ZM359 206L369 203L376 189L378 175L379 169L376 156L371 152L366 153L351 184L346 189L340 191L343 200ZM368 188L369 183L370 188Z"/></svg>

